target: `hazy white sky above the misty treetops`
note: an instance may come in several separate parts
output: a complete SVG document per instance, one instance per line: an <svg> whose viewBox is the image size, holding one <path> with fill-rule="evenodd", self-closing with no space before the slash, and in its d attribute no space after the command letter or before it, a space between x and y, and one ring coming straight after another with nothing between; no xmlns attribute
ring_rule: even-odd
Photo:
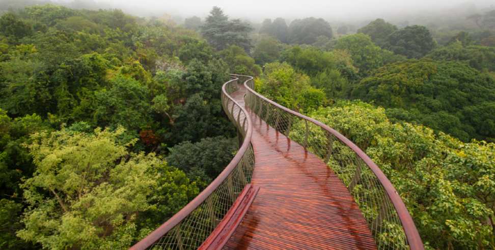
<svg viewBox="0 0 495 250"><path fill-rule="evenodd" d="M448 10L461 4L479 7L495 5L495 0L95 0L122 9L159 13L162 11L183 17L205 16L212 6L218 6L232 17L261 18L307 16L325 19L372 18L417 10Z"/></svg>

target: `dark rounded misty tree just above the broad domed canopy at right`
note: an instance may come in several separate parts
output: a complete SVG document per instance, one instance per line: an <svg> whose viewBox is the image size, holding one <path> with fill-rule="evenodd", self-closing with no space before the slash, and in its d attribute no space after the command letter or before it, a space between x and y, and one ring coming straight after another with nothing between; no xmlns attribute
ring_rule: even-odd
<svg viewBox="0 0 495 250"><path fill-rule="evenodd" d="M408 58L421 58L430 52L436 43L425 26L412 25L390 34L387 49Z"/></svg>

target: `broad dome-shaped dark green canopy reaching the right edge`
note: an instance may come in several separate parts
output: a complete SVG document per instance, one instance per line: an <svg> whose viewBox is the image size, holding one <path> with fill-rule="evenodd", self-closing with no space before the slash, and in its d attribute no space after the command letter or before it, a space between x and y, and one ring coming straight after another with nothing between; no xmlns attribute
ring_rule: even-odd
<svg viewBox="0 0 495 250"><path fill-rule="evenodd" d="M353 97L461 140L495 139L495 80L457 62L408 60L363 79Z"/></svg>

